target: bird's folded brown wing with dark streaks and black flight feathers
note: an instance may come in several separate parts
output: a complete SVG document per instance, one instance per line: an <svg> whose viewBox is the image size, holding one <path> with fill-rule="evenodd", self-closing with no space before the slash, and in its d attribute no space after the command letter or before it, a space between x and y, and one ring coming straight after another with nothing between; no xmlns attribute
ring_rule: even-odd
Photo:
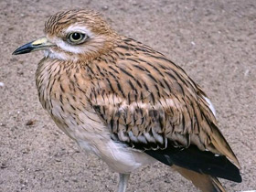
<svg viewBox="0 0 256 192"><path fill-rule="evenodd" d="M112 50L113 57L102 56L91 64L96 78L88 99L112 139L166 165L192 166L200 172L209 164L214 169L228 162L236 172L226 156L239 162L218 129L206 94L162 54L129 38L124 42Z"/></svg>

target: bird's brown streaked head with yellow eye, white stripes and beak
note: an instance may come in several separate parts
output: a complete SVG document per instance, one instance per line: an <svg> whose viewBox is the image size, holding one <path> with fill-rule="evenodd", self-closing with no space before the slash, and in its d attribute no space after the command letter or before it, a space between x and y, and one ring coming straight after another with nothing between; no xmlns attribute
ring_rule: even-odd
<svg viewBox="0 0 256 192"><path fill-rule="evenodd" d="M17 48L14 55L44 50L50 59L92 59L109 50L117 38L111 27L93 11L70 10L48 18L45 37Z"/></svg>

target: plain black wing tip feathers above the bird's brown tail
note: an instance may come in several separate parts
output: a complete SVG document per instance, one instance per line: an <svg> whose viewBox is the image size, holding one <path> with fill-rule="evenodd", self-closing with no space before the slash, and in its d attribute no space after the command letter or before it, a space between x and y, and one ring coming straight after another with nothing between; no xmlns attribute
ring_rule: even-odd
<svg viewBox="0 0 256 192"><path fill-rule="evenodd" d="M200 151L196 145L178 150L168 146L165 150L144 151L165 165L178 165L200 174L225 178L240 183L240 170L224 155Z"/></svg>

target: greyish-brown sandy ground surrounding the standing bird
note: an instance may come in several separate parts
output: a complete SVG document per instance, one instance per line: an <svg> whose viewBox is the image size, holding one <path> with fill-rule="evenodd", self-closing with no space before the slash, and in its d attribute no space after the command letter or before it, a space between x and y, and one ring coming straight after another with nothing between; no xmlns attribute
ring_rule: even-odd
<svg viewBox="0 0 256 192"><path fill-rule="evenodd" d="M48 16L78 7L100 11L118 32L186 69L214 103L240 160L243 182L223 184L228 191L256 189L255 0L1 0L0 191L116 190L118 175L80 153L40 106L34 74L42 53L11 55L43 36ZM134 173L128 191L197 189L158 163Z"/></svg>

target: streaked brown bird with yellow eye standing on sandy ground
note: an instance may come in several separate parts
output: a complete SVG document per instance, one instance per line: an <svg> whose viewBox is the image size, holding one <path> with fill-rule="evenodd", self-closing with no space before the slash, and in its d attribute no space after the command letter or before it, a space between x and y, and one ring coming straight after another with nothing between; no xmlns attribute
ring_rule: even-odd
<svg viewBox="0 0 256 192"><path fill-rule="evenodd" d="M241 182L212 102L184 69L93 10L49 16L44 33L13 55L44 51L36 71L42 107L81 150L119 173L118 192L155 162L203 192L226 191L218 178Z"/></svg>

